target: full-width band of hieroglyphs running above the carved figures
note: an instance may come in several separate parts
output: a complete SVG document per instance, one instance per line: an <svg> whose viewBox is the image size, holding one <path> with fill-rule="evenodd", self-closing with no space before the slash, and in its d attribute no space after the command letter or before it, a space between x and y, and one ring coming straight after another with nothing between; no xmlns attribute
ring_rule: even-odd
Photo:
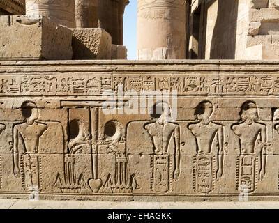
<svg viewBox="0 0 279 223"><path fill-rule="evenodd" d="M1 76L0 96L86 95L104 91L177 91L179 95L279 94L279 75L28 75Z"/></svg>

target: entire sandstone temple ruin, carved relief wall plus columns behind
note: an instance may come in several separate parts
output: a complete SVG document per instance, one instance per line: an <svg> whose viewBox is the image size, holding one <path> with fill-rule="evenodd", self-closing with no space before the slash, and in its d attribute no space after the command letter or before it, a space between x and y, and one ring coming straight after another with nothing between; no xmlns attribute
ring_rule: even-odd
<svg viewBox="0 0 279 223"><path fill-rule="evenodd" d="M278 201L276 2L0 1L0 198Z"/></svg>

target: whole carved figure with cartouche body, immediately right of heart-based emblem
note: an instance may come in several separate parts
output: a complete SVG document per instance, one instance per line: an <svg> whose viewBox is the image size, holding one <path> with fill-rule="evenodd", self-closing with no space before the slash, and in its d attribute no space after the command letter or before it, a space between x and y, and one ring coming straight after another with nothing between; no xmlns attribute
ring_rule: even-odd
<svg viewBox="0 0 279 223"><path fill-rule="evenodd" d="M169 105L166 102L157 104L157 111L159 107L162 114L158 120L147 123L144 128L153 141L151 187L156 192L168 192L172 190L172 180L178 180L180 174L180 128L170 122L172 114Z"/></svg>

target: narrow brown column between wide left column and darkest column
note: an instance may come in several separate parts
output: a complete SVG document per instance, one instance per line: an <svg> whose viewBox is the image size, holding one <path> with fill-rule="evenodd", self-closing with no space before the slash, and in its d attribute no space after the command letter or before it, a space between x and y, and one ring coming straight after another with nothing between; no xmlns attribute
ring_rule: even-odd
<svg viewBox="0 0 279 223"><path fill-rule="evenodd" d="M77 28L98 28L98 0L75 0L75 24Z"/></svg>

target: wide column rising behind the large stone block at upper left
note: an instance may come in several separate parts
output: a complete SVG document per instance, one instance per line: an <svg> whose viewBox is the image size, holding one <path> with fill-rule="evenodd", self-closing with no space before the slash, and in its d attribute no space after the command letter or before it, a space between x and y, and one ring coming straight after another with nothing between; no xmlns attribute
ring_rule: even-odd
<svg viewBox="0 0 279 223"><path fill-rule="evenodd" d="M26 14L43 15L56 24L75 28L75 0L26 0Z"/></svg>

